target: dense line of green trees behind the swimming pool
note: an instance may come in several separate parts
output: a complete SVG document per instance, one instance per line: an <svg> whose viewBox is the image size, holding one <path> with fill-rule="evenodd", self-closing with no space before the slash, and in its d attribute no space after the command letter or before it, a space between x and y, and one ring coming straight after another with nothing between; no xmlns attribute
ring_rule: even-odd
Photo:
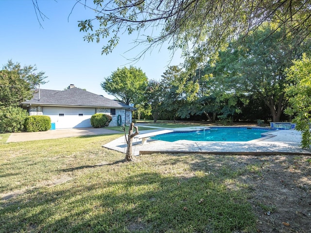
<svg viewBox="0 0 311 233"><path fill-rule="evenodd" d="M290 98L286 88L296 81L286 77L286 70L303 54L310 55L311 44L306 40L296 46L296 38L285 32L264 23L232 40L216 61L210 60L194 73L171 66L160 80L148 81L140 69L123 68L113 72L102 87L122 102L133 103L136 118L155 122L291 120L292 116L284 115Z"/></svg>

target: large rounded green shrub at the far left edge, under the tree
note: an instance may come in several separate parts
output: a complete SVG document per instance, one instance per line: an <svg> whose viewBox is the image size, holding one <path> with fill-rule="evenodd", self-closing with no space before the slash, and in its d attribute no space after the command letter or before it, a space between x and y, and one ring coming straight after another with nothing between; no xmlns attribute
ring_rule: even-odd
<svg viewBox="0 0 311 233"><path fill-rule="evenodd" d="M24 130L27 110L19 107L4 107L0 110L0 133L16 133Z"/></svg>

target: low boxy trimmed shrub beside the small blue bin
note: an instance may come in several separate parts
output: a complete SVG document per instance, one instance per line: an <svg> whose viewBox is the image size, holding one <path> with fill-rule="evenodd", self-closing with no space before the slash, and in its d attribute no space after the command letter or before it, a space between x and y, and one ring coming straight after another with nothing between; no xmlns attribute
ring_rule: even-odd
<svg viewBox="0 0 311 233"><path fill-rule="evenodd" d="M25 120L27 132L48 131L51 129L50 116L27 116Z"/></svg>

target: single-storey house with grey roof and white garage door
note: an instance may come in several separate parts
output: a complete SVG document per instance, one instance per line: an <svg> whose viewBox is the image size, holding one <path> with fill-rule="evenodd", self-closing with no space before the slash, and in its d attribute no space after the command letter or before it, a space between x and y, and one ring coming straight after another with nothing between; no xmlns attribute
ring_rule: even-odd
<svg viewBox="0 0 311 233"><path fill-rule="evenodd" d="M22 102L30 116L50 116L55 129L92 127L91 116L104 113L112 117L109 126L130 124L133 107L85 91L73 84L67 90L37 89L32 100ZM52 126L54 125L52 124Z"/></svg>

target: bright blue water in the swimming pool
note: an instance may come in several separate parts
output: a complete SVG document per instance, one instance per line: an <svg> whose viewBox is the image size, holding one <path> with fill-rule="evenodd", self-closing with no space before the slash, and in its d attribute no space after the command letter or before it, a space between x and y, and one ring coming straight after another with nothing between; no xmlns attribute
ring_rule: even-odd
<svg viewBox="0 0 311 233"><path fill-rule="evenodd" d="M246 127L211 127L210 129L190 132L172 132L151 137L155 140L174 142L178 140L212 141L212 142L243 142L258 139L261 133L271 130Z"/></svg>

